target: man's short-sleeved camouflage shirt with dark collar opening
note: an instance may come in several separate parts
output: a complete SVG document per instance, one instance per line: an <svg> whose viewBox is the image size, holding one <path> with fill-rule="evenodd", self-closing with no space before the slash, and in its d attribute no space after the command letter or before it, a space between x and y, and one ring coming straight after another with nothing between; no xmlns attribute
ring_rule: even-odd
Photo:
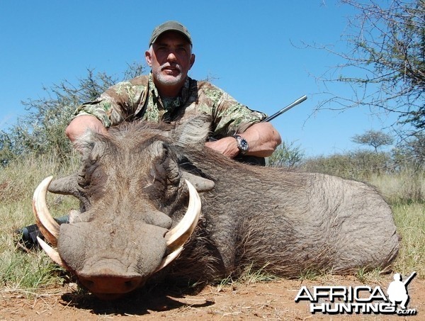
<svg viewBox="0 0 425 321"><path fill-rule="evenodd" d="M108 128L137 119L175 122L205 113L212 119L212 136L221 138L242 133L266 114L251 111L207 81L187 78L180 96L161 98L152 73L123 81L108 89L96 101L83 103L75 116L96 116Z"/></svg>

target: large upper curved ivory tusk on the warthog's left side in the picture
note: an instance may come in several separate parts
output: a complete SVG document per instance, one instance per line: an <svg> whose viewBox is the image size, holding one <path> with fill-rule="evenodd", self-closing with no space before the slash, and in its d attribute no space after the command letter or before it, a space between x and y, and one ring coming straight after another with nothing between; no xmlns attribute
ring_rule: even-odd
<svg viewBox="0 0 425 321"><path fill-rule="evenodd" d="M40 228L42 235L50 244L56 246L60 225L52 218L46 205L47 188L52 178L53 176L47 177L37 188L35 188L33 196L33 213L35 216L35 223L37 223L38 228Z"/></svg>

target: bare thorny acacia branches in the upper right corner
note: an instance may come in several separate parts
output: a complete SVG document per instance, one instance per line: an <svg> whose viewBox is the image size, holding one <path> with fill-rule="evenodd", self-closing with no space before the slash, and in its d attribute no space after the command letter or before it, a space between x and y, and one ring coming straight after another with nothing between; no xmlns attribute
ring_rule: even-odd
<svg viewBox="0 0 425 321"><path fill-rule="evenodd" d="M345 83L351 97L331 95L317 109L365 106L398 113L399 124L425 130L425 0L341 0L356 9L348 20L346 52L336 52L342 63L322 79ZM336 75L336 76L335 76Z"/></svg>

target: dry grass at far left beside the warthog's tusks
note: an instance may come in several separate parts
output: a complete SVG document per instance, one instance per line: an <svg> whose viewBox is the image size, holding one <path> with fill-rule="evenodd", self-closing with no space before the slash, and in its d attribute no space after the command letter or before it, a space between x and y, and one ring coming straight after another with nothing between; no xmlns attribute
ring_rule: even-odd
<svg viewBox="0 0 425 321"><path fill-rule="evenodd" d="M67 166L75 169L77 162ZM0 171L0 277L4 288L27 291L62 283L62 270L40 251L23 251L17 246L16 230L34 223L32 195L35 187L52 174L64 175L67 169L55 157L28 157ZM52 196L54 216L64 215L78 204L68 196Z"/></svg>

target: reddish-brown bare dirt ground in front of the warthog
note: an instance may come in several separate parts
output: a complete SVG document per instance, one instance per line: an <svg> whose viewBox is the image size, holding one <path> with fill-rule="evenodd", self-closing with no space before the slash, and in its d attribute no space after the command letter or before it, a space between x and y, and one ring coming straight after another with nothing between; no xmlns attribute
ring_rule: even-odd
<svg viewBox="0 0 425 321"><path fill-rule="evenodd" d="M74 284L28 295L23 291L1 291L0 320L425 320L425 280L409 283L409 309L416 316L329 315L310 312L305 301L295 303L301 286L380 286L387 290L392 275L380 281L331 276L319 281L280 280L268 283L206 286L200 293L151 288L115 301L101 301L76 291Z"/></svg>

